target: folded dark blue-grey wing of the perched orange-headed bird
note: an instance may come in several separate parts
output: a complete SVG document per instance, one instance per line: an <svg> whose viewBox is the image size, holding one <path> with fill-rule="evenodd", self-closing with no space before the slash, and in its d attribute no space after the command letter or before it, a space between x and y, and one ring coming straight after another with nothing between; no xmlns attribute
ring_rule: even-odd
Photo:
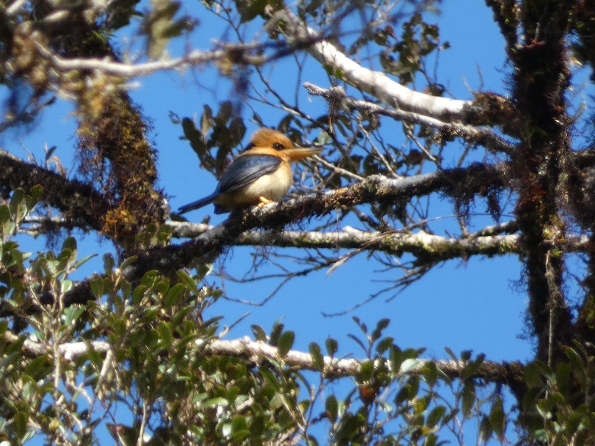
<svg viewBox="0 0 595 446"><path fill-rule="evenodd" d="M217 193L230 193L279 168L281 158L273 155L242 155L221 175Z"/></svg>

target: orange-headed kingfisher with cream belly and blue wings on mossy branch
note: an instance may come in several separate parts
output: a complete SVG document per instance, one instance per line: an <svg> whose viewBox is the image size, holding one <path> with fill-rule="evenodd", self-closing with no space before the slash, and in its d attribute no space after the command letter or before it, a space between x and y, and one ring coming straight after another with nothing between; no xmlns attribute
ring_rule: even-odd
<svg viewBox="0 0 595 446"><path fill-rule="evenodd" d="M271 128L256 130L246 149L223 172L215 191L181 206L178 213L194 211L209 203L215 203L215 213L224 213L278 202L292 185L289 163L320 152L322 149L297 147L283 133Z"/></svg>

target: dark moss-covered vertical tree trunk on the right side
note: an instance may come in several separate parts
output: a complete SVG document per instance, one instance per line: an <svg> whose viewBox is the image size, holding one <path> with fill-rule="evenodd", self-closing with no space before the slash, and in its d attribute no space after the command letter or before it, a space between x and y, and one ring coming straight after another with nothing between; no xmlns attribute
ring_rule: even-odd
<svg viewBox="0 0 595 446"><path fill-rule="evenodd" d="M556 249L566 236L559 204L572 166L566 35L573 5L548 2L543 8L522 9L525 45L511 52L513 96L526 130L511 156L509 172L518 194L516 221L527 247L523 260L528 315L537 339L537 358L546 362L565 357L562 346L574 336L563 278L565 259Z"/></svg>

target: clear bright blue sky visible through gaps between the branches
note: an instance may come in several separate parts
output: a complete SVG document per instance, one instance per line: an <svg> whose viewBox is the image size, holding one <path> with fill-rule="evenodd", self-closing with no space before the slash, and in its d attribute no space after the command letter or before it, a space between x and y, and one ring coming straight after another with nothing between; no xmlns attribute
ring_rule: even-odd
<svg viewBox="0 0 595 446"><path fill-rule="evenodd" d="M505 94L506 67L504 65L503 39L496 24L491 20L491 11L483 2L444 1L441 15L431 18L440 24L441 39L450 42L451 49L440 55L439 79L459 99L472 98L471 90L480 89L481 71L483 89ZM190 4L188 6L191 7ZM214 16L203 16L198 32L191 39L192 46L208 48L210 39L223 36L223 27L214 20ZM123 48L126 43L122 44ZM176 45L172 46L172 52ZM328 87L327 77L317 65L308 62L303 81L310 81L321 87ZM289 61L280 61L275 73ZM278 76L275 75L275 76ZM198 78L201 85L196 83ZM281 84L285 78L275 78ZM176 73L158 73L148 78L137 80L139 86L131 90L131 96L139 103L145 114L154 123L152 138L159 151L159 184L171 197L170 205L175 210L184 203L209 194L215 187L215 180L208 172L199 169L198 159L186 141L180 140L181 127L171 123L170 111L180 117L199 117L204 103L211 104L215 110L219 100L228 99L230 83L217 75L214 68L208 67L180 78ZM293 88L291 81L287 82ZM314 113L326 109L320 98L308 102L305 92L305 107ZM74 122L66 116L70 105L61 101L52 110L45 113L43 120L22 140L11 132L0 137L0 145L24 157L27 147L37 159L43 159L43 146L58 146L55 153L65 165L70 165L74 146ZM245 118L251 116L244 108ZM275 109L262 108L262 116L268 124L278 123L283 113ZM400 128L398 123L386 121L386 131L391 126ZM249 133L256 129L253 124ZM400 136L399 136L400 137ZM400 144L400 142L399 142ZM456 143L455 143L456 144ZM455 150L458 152L458 150ZM72 173L72 172L71 172ZM449 203L436 205L432 216L452 214ZM483 212L478 209L478 212ZM189 221L201 221L203 216L212 215L212 206L189 213ZM223 221L226 216L214 217L211 222ZM444 227L455 228L453 218L444 219ZM441 234L440 234L441 235ZM39 240L21 238L30 250L42 250ZM175 241L174 241L175 242ZM81 256L98 252L97 260L89 262L80 275L89 271L101 271L101 253L111 250L108 242L98 244L95 236L89 235L80 244ZM237 247L224 256L226 268L241 275L250 265L249 248ZM282 253L287 253L283 251ZM519 291L515 283L521 277L521 265L515 256L481 259L472 257L466 262L452 260L443 266L434 268L421 281L411 285L396 299L385 302L383 297L359 307L353 312L336 317L324 317L322 313L342 312L354 304L367 299L382 284L378 280L394 278L397 271L377 272L381 266L364 255L358 255L332 274L326 271L311 274L308 277L292 279L265 306L246 306L246 304L220 300L211 308L211 315L224 315L222 322L231 325L242 315L250 315L233 328L227 338L250 335L249 326L258 324L266 331L274 321L282 319L287 329L296 332L294 348L307 350L308 344L315 341L324 344L327 337L339 340L339 354L360 357L361 352L347 334L359 334L352 322L357 316L368 326L374 326L381 318L390 318L392 322L384 331L394 337L401 347L427 347L427 356L446 358L443 348L450 347L455 353L461 350L474 350L474 353L486 353L491 360L525 360L531 357L531 346L527 340L519 339L523 330L524 309L527 297ZM216 279L207 278L207 282L217 283ZM226 281L228 296L236 299L261 301L277 286L277 281L262 281L252 284L233 284Z"/></svg>

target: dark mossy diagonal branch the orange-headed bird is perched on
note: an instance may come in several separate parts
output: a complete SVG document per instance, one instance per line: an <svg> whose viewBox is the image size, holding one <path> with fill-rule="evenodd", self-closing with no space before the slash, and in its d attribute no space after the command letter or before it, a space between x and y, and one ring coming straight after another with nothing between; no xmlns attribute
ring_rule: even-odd
<svg viewBox="0 0 595 446"><path fill-rule="evenodd" d="M280 231L286 225L314 216L328 215L336 209L350 208L372 202L394 203L437 191L449 193L450 189L465 184L468 189L485 190L502 184L502 169L505 165L474 164L466 168L416 175L415 177L390 179L372 175L364 181L341 189L321 194L303 196L281 203L271 203L263 208L231 213L223 223L210 228L192 240L178 245L156 246L139 255L136 262L127 266L123 274L130 281L140 279L143 274L156 269L168 274L196 262L212 263L227 246L236 243L241 234L256 228ZM48 296L51 299L51 296ZM64 305L86 303L95 300L90 281L79 282L64 296ZM49 302L45 302L49 303ZM0 309L0 316L6 315Z"/></svg>

